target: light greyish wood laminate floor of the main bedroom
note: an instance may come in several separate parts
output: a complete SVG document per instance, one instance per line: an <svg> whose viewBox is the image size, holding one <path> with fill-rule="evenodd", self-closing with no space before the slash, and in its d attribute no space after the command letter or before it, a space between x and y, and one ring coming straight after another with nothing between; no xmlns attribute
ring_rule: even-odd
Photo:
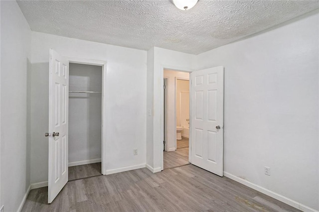
<svg viewBox="0 0 319 212"><path fill-rule="evenodd" d="M47 204L33 189L22 212L297 212L282 202L193 165L146 168L68 182Z"/></svg>

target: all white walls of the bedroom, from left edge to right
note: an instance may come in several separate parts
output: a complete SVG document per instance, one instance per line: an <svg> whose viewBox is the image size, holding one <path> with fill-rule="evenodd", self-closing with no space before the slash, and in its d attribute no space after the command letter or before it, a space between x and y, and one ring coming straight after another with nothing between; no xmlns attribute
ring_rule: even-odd
<svg viewBox="0 0 319 212"><path fill-rule="evenodd" d="M68 57L107 61L107 170L146 162L154 171L161 169L163 68L223 65L225 171L319 210L318 10L198 56L32 32L30 75L30 29L15 1L0 5L0 202L5 211L17 210L29 185L29 139L31 182L47 181L43 134L48 129L49 48ZM264 175L264 166L271 168L271 176Z"/></svg>

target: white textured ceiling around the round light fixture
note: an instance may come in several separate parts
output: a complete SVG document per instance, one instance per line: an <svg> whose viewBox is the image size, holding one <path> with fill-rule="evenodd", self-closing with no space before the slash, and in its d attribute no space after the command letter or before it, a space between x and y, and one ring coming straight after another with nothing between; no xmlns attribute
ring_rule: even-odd
<svg viewBox="0 0 319 212"><path fill-rule="evenodd" d="M33 31L149 50L199 54L319 8L318 0L17 1Z"/></svg>

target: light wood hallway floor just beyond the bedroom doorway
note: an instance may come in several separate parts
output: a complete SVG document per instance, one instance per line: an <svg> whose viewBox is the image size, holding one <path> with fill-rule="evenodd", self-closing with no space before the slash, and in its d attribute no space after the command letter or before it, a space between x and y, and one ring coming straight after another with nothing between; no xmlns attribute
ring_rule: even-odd
<svg viewBox="0 0 319 212"><path fill-rule="evenodd" d="M163 152L164 169L189 164L188 147L176 149L175 151Z"/></svg>

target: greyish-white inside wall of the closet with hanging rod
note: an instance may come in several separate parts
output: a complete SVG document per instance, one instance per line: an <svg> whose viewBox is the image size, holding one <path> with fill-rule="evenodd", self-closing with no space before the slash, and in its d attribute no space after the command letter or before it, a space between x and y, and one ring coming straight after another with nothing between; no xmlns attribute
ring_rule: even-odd
<svg viewBox="0 0 319 212"><path fill-rule="evenodd" d="M69 91L102 92L102 66L69 64ZM69 164L101 159L102 94L69 93Z"/></svg>

